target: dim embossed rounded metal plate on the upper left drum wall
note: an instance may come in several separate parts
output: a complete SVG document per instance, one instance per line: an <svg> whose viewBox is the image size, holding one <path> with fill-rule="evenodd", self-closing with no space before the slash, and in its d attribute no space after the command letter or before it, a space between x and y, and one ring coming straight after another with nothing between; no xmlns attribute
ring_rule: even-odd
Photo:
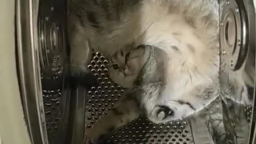
<svg viewBox="0 0 256 144"><path fill-rule="evenodd" d="M61 3L40 3L38 17L39 57L43 73L54 75L63 65L65 55L65 17L59 17L65 13L65 7L59 7ZM65 6L65 3L63 3Z"/></svg>

